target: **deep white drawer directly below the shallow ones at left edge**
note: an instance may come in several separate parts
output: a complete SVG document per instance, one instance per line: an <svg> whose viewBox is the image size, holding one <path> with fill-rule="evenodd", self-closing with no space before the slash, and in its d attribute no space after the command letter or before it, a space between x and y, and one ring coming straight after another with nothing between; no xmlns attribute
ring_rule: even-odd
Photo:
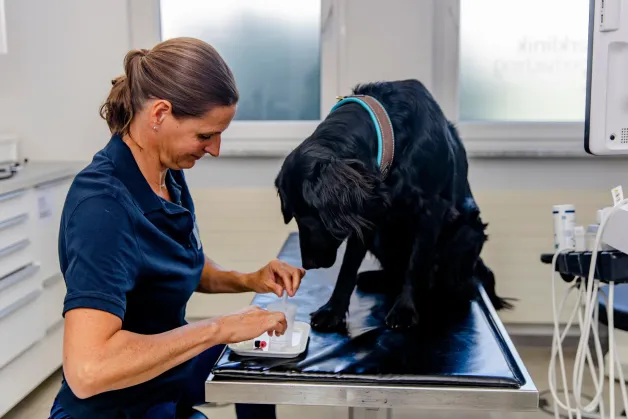
<svg viewBox="0 0 628 419"><path fill-rule="evenodd" d="M41 289L0 310L0 368L45 336Z"/></svg>

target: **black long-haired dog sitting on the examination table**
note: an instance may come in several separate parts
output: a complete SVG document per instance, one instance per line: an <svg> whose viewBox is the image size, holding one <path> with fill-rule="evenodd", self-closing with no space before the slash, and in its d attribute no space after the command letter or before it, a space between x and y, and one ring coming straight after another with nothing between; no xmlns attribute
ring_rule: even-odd
<svg viewBox="0 0 628 419"><path fill-rule="evenodd" d="M483 285L496 309L510 304L480 258L486 224L467 179L455 127L417 80L360 85L395 132L395 157L382 180L377 133L367 111L348 103L331 112L286 158L275 180L286 223L299 228L303 268L328 268L347 248L329 302L312 315L318 331L342 331L356 285L395 295L390 328L418 324L423 310L468 306ZM366 253L382 271L357 272Z"/></svg>

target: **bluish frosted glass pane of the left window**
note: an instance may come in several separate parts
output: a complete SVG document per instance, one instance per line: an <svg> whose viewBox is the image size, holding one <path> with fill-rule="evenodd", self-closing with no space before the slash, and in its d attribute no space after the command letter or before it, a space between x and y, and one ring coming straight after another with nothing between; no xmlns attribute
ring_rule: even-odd
<svg viewBox="0 0 628 419"><path fill-rule="evenodd" d="M202 39L231 67L240 121L319 121L321 0L161 0L161 37Z"/></svg>

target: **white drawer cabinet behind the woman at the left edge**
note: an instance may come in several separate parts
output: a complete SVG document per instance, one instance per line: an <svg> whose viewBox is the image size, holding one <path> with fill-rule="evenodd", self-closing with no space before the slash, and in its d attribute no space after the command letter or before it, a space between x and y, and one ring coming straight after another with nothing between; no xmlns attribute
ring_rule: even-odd
<svg viewBox="0 0 628 419"><path fill-rule="evenodd" d="M0 417L62 365L58 236L76 171L29 170L0 181Z"/></svg>

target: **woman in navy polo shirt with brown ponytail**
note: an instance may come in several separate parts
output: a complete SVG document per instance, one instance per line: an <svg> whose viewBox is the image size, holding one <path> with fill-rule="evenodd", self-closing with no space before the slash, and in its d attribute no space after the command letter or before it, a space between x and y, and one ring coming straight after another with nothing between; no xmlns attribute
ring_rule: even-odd
<svg viewBox="0 0 628 419"><path fill-rule="evenodd" d="M203 253L182 169L210 154L236 112L233 75L208 44L177 38L124 60L101 108L112 137L67 195L59 257L64 380L52 418L187 418L223 345L281 334L281 313L250 307L186 324L194 291L299 288L304 271L271 261L223 270ZM217 203L219 204L219 203ZM274 406L236 407L239 418Z"/></svg>

